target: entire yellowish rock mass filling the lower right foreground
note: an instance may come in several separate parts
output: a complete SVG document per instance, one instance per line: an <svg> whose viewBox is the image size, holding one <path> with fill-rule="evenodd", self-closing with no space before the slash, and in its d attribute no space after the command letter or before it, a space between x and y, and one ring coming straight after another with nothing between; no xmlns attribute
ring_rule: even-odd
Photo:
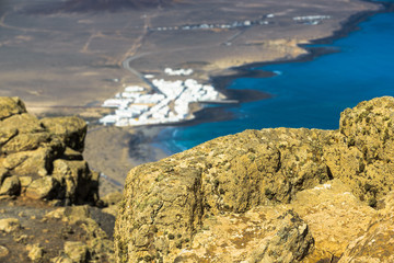
<svg viewBox="0 0 394 263"><path fill-rule="evenodd" d="M338 130L245 130L132 169L117 262L390 262L393 121L379 98Z"/></svg>

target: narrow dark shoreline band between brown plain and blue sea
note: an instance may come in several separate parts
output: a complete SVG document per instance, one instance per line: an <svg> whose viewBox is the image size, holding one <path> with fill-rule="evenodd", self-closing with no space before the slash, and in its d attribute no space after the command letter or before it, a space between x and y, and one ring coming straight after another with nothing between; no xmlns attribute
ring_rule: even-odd
<svg viewBox="0 0 394 263"><path fill-rule="evenodd" d="M347 37L351 32L358 31L358 25L364 21L367 21L369 18L378 14L378 13L385 13L391 12L394 10L394 3L387 3L387 2L374 2L374 1L368 1L366 2L372 2L380 4L380 9L375 11L363 11L356 13L351 15L346 22L341 24L341 27L337 31L334 31L333 34L328 37L323 37L314 41L310 41L309 44L300 44L299 46L302 47L304 50L306 50L306 54L302 54L298 56L297 58L290 58L290 59L277 59L273 61L260 61L260 62L253 62L243 65L240 67L231 67L228 68L225 71L231 70L232 72L229 75L218 75L218 76L210 76L209 83L212 83L216 90L218 90L220 93L223 93L228 96L229 100L237 100L239 103L230 104L225 106L220 107L202 107L201 110L194 113L195 118L190 121L181 122L173 125L161 125L164 127L162 132L167 128L175 128L175 127L188 127L201 123L210 123L210 122L221 122L221 121L230 121L233 118L233 114L231 112L225 111L227 108L234 107L241 103L244 102L252 102L252 101L259 101L259 100L268 100L273 95L266 92L260 92L256 90L235 90L235 89L228 89L229 84L239 78L270 78L274 77L276 73L271 71L265 71L262 69L254 69L254 68L262 68L266 66L271 65L278 65L278 64L291 64L291 62L304 62L304 61L311 61L315 59L316 57L321 57L324 55L333 54L333 53L340 53L340 50L333 48L333 47L313 47L313 45L331 45L336 39L340 39L344 37ZM248 94L242 94L248 92ZM256 95L259 95L260 98L256 99ZM243 96L243 98L240 98ZM213 117L211 115L213 114ZM209 117L208 117L209 116ZM157 135L158 141L160 141L159 138L166 138L167 135L163 135L163 133L160 132ZM172 151L166 144L152 144L152 147L158 147L163 152L166 152L167 156L177 153L178 151ZM178 147L176 147L178 148ZM179 148L178 148L179 149ZM182 149L179 149L182 150Z"/></svg>

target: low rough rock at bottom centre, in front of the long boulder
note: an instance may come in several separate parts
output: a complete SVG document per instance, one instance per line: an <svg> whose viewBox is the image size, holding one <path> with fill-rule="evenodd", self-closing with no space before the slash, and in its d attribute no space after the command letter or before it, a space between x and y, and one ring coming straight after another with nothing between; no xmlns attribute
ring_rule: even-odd
<svg viewBox="0 0 394 263"><path fill-rule="evenodd" d="M185 241L174 237L178 249ZM155 245L160 247L160 241ZM290 263L302 260L313 247L308 225L293 210L258 207L243 215L208 218L193 245L186 244L174 262Z"/></svg>

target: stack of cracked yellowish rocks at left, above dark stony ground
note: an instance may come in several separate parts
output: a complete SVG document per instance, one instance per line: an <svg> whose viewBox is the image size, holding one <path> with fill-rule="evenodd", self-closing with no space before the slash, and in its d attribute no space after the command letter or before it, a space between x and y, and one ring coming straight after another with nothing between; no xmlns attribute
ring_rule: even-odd
<svg viewBox="0 0 394 263"><path fill-rule="evenodd" d="M0 98L0 195L94 204L99 175L83 160L86 124L37 119L18 98Z"/></svg>

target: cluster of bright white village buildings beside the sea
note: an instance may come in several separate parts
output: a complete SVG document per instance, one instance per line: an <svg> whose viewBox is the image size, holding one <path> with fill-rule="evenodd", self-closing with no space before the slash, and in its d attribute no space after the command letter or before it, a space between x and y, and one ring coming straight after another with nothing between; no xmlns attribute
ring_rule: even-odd
<svg viewBox="0 0 394 263"><path fill-rule="evenodd" d="M173 70L166 68L167 76L189 76L192 69ZM153 76L144 76L146 79ZM192 103L224 102L210 84L198 83L195 79L167 81L152 79L149 81L152 91L139 85L126 87L113 99L104 101L103 107L114 108L114 113L102 117L103 125L143 126L178 123L194 118Z"/></svg>

